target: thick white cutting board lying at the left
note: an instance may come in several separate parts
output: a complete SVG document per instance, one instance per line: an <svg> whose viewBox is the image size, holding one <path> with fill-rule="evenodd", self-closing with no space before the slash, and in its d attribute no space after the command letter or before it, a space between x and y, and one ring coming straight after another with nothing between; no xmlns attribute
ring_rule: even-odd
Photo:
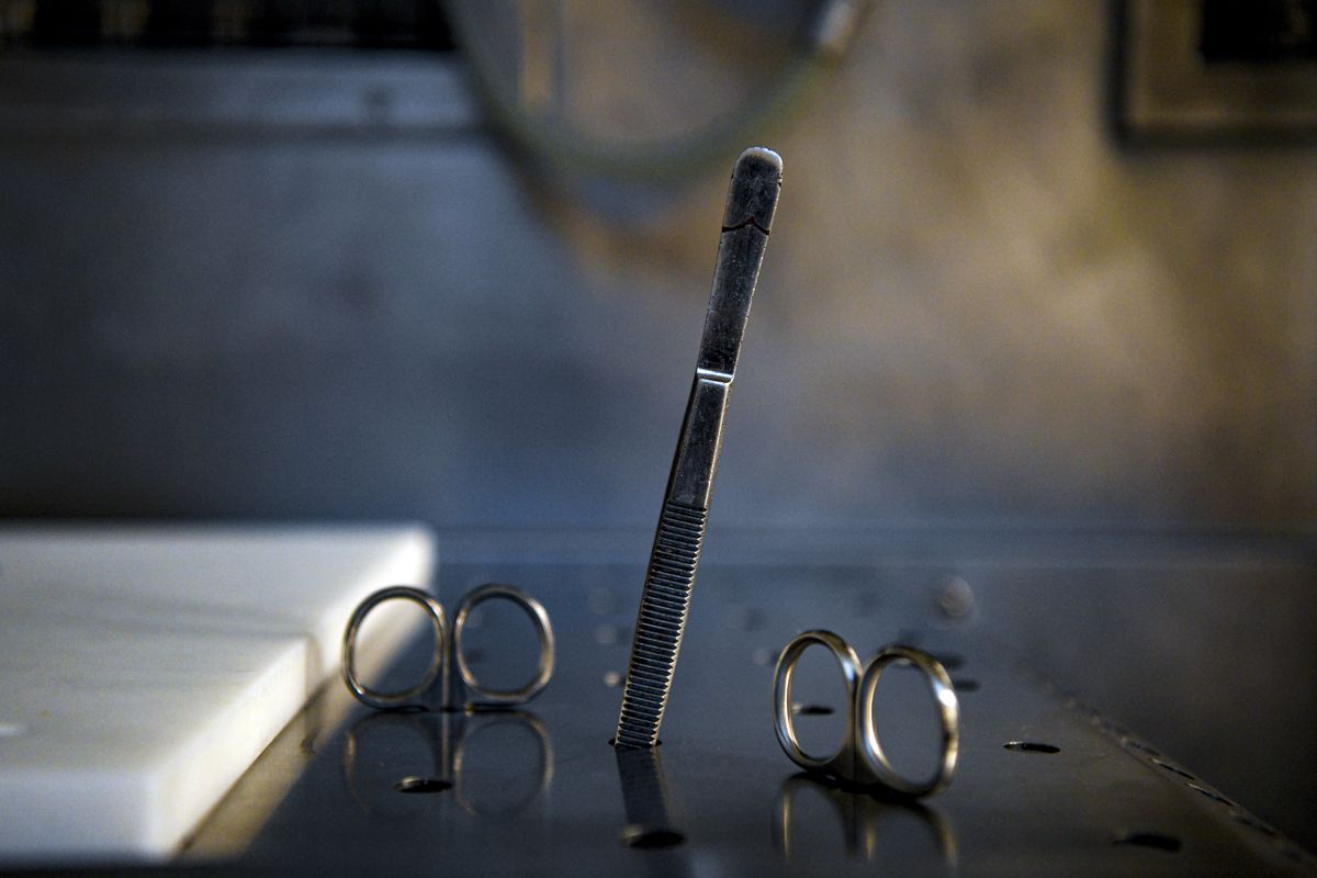
<svg viewBox="0 0 1317 878"><path fill-rule="evenodd" d="M419 527L0 529L0 862L173 854L432 566Z"/></svg>

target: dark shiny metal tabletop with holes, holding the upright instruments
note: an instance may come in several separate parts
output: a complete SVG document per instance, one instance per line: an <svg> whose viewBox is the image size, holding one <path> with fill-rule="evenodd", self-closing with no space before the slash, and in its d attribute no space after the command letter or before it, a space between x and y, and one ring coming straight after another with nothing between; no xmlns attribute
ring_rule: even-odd
<svg viewBox="0 0 1317 878"><path fill-rule="evenodd" d="M547 606L557 671L503 712L375 712L332 684L275 740L178 861L111 871L317 874L1309 874L1306 852L1205 781L1052 690L973 625L848 565L709 563L653 752L608 744L644 570L637 563L456 563L436 591L514 582ZM495 683L533 667L511 606L468 636ZM520 628L519 628L520 627ZM961 704L960 770L921 803L802 775L772 725L773 662L805 628L861 659L914 642ZM395 669L429 649L417 640ZM836 740L843 686L811 650L797 699L807 748ZM892 674L878 728L898 765L927 765L922 681ZM828 708L834 708L828 712ZM1021 745L1022 744L1022 745ZM1011 745L1011 746L1008 746ZM399 791L423 778L427 791Z"/></svg>

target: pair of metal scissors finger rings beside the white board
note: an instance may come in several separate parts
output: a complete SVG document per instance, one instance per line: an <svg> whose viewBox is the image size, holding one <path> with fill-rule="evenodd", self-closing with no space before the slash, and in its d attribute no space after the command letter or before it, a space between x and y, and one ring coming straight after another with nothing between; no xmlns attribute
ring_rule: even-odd
<svg viewBox="0 0 1317 878"><path fill-rule="evenodd" d="M462 650L462 632L466 631L471 611L486 600L502 598L516 604L525 611L535 624L536 637L540 641L540 659L535 671L535 678L512 690L495 690L481 686L471 673ZM429 654L429 666L425 669L421 681L408 690L400 692L379 692L357 678L357 633L361 623L371 609L386 600L403 599L412 600L421 606L429 615L431 625L435 629L435 648ZM410 586L391 586L370 595L357 607L348 621L348 628L342 633L342 679L357 696L357 700L379 710L407 707L435 684L439 675L449 666L449 656L457 662L457 673L468 690L478 695L482 706L510 706L524 704L540 694L553 677L553 625L549 623L549 613L539 600L525 594L515 586L490 583L473 588L457 603L457 615L453 617L453 634L448 634L448 617L444 615L444 606L439 603L428 591L412 588ZM445 699L446 700L446 699ZM446 707L446 704L445 704Z"/></svg>

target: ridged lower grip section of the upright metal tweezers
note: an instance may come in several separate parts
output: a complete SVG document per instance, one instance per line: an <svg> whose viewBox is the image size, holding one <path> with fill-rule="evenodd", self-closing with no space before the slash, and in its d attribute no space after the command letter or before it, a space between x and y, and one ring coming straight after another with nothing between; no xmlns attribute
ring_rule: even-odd
<svg viewBox="0 0 1317 878"><path fill-rule="evenodd" d="M699 548L709 512L678 503L665 503L658 517L645 588L640 596L631 663L622 692L618 746L648 748L658 744L672 675L677 669L681 636L690 613Z"/></svg>

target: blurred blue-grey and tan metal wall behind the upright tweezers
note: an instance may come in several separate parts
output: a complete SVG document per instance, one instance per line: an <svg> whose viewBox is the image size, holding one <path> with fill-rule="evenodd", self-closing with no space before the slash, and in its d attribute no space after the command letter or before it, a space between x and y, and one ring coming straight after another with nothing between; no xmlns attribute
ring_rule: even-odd
<svg viewBox="0 0 1317 878"><path fill-rule="evenodd" d="M764 130L715 524L1306 525L1317 161L1114 146L1108 37L881 3ZM0 508L648 524L723 172L591 213L402 58L0 61Z"/></svg>

